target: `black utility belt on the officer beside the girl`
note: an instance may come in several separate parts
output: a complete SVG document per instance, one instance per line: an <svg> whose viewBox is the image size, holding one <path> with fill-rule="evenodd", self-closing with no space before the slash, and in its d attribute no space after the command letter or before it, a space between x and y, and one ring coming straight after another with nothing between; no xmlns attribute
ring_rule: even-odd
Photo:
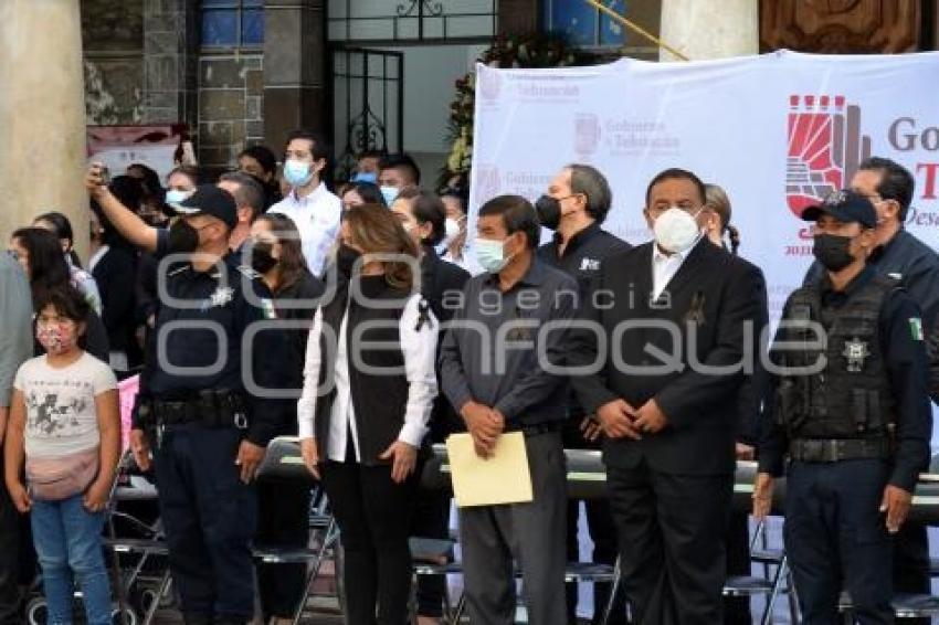
<svg viewBox="0 0 939 625"><path fill-rule="evenodd" d="M200 391L188 400L151 400L139 406L138 421L144 427L169 427L201 423L205 427L247 430L247 403L240 392L229 390Z"/></svg>

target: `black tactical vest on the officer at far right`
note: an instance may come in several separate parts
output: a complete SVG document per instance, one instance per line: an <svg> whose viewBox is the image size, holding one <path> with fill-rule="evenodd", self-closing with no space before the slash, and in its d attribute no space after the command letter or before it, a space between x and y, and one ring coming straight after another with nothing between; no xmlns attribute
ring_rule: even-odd
<svg viewBox="0 0 939 625"><path fill-rule="evenodd" d="M787 329L788 340L805 349L784 352L788 367L812 367L814 374L783 375L778 389L779 419L790 438L883 438L896 422L890 380L880 349L879 316L896 280L873 277L841 308L823 309L817 286L802 287L789 300L788 321L815 321L826 335L810 328ZM826 339L825 339L826 337ZM811 342L820 346L810 349Z"/></svg>

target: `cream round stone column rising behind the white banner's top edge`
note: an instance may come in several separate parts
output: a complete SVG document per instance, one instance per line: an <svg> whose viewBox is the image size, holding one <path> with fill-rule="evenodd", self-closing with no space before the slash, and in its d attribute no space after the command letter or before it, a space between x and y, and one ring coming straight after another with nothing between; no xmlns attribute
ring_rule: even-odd
<svg viewBox="0 0 939 625"><path fill-rule="evenodd" d="M662 0L661 39L692 61L757 54L757 0ZM660 61L676 61L660 51Z"/></svg>

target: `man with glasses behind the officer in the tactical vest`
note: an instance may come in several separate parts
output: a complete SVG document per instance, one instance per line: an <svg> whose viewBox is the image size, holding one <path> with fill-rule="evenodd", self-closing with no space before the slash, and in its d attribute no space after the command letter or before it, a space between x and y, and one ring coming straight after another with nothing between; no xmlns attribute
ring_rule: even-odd
<svg viewBox="0 0 939 625"><path fill-rule="evenodd" d="M914 177L906 168L880 157L864 160L851 179L851 190L866 197L877 212L876 250L868 265L877 275L899 282L921 310L925 335L931 337L939 321L939 255L904 227L914 187ZM816 261L803 284L816 284L824 273ZM931 356L935 359L937 354ZM894 590L912 594L930 592L926 526L905 523L895 537ZM929 622L928 618L908 621L927 625Z"/></svg>

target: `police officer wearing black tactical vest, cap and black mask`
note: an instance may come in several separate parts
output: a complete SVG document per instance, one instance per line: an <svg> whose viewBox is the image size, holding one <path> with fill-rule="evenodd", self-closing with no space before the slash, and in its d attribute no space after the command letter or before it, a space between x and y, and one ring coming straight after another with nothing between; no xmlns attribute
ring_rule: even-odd
<svg viewBox="0 0 939 625"><path fill-rule="evenodd" d="M840 191L802 216L816 222L825 276L783 310L753 511L769 512L788 455L783 531L804 623L837 623L842 589L859 623L893 623L884 572L932 428L919 308L867 266L877 225L867 198Z"/></svg>

